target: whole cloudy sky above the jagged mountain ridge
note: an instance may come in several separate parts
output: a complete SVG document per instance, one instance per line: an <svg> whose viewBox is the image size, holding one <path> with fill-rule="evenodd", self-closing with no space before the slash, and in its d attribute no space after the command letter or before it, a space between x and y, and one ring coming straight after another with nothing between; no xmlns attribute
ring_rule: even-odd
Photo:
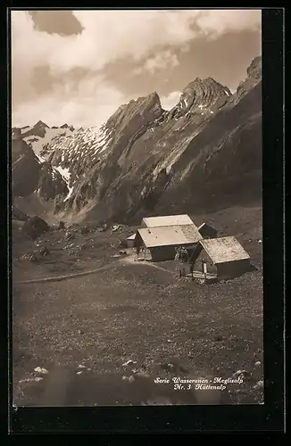
<svg viewBox="0 0 291 446"><path fill-rule="evenodd" d="M100 126L154 91L170 110L195 78L235 91L262 54L259 10L11 14L13 127Z"/></svg>

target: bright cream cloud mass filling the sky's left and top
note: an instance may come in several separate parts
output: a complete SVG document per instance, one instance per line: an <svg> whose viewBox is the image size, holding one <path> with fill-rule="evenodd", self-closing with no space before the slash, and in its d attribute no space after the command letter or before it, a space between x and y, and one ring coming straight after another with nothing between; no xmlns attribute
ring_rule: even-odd
<svg viewBox="0 0 291 446"><path fill-rule="evenodd" d="M82 32L61 36L37 29L29 12L12 11L13 121L30 123L47 116L54 123L91 124L127 99L103 78L107 64L128 59L136 62L137 70L171 70L179 64L175 49L187 50L195 37L261 27L261 12L248 10L72 13ZM53 79L51 91L44 95L34 88L34 73L41 67L48 67ZM71 71L79 69L86 76L70 84Z"/></svg>

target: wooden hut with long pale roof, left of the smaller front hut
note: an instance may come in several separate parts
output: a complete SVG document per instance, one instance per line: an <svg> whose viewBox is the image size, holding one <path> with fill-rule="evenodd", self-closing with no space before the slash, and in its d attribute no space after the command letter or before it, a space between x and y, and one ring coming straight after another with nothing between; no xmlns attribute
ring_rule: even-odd
<svg viewBox="0 0 291 446"><path fill-rule="evenodd" d="M149 252L150 260L174 260L176 249L185 247L192 252L202 236L194 224L183 226L142 227L137 229L136 246L139 252Z"/></svg>

